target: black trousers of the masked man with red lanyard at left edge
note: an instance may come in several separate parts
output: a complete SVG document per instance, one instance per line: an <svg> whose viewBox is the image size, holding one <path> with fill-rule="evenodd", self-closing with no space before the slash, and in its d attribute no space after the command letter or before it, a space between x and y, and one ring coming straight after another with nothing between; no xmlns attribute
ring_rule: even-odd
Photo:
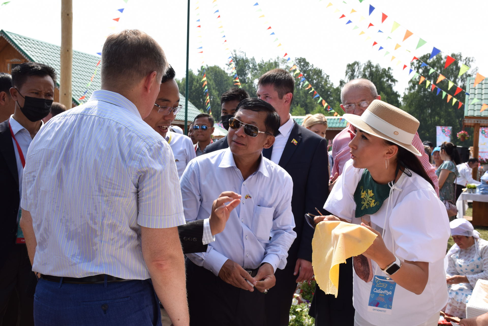
<svg viewBox="0 0 488 326"><path fill-rule="evenodd" d="M37 278L25 244L12 248L0 268L0 326L33 326Z"/></svg>

